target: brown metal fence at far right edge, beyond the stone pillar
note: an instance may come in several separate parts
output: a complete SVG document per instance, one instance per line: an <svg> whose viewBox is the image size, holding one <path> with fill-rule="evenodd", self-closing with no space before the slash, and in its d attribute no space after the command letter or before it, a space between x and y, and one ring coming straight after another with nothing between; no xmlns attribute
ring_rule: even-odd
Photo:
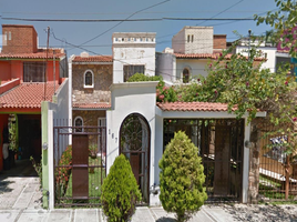
<svg viewBox="0 0 297 222"><path fill-rule="evenodd" d="M277 133L280 127L268 121L257 120L260 131L259 151L259 200L296 201L297 198L297 160L296 154L286 152L286 134ZM286 125L294 129L294 125ZM295 157L294 157L295 155Z"/></svg>

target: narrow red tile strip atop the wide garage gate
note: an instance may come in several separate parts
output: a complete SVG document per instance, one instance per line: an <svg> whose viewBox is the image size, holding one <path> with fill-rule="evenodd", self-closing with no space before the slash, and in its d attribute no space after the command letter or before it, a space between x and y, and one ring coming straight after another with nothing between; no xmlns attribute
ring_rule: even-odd
<svg viewBox="0 0 297 222"><path fill-rule="evenodd" d="M226 112L228 105L225 103L212 102L166 102L156 104L163 111L183 111L183 112Z"/></svg>

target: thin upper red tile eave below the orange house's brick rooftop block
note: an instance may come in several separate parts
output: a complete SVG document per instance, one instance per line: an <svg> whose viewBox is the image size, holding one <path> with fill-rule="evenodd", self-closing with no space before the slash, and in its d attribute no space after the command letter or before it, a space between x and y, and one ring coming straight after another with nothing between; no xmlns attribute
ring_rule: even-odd
<svg viewBox="0 0 297 222"><path fill-rule="evenodd" d="M64 56L65 53L62 49L54 49L55 59ZM49 51L48 58L53 59L52 50ZM0 59L47 59L47 51L45 49L39 49L39 52L35 53L0 53Z"/></svg>

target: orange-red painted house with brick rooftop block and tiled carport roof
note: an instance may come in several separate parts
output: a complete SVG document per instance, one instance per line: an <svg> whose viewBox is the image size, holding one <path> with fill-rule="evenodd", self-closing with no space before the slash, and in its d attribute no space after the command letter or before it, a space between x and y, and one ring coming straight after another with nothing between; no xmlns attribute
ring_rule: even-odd
<svg viewBox="0 0 297 222"><path fill-rule="evenodd" d="M51 101L68 61L63 49L38 48L33 26L2 24L0 52L0 171L10 114L17 120L19 158L41 158L41 102Z"/></svg>

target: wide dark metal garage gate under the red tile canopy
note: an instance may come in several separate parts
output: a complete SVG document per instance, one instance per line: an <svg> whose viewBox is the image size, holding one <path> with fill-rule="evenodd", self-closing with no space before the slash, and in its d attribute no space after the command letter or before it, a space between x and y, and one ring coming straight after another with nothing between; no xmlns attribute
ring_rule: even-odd
<svg viewBox="0 0 297 222"><path fill-rule="evenodd" d="M198 148L209 201L242 201L244 120L166 119L164 149L184 131Z"/></svg>

